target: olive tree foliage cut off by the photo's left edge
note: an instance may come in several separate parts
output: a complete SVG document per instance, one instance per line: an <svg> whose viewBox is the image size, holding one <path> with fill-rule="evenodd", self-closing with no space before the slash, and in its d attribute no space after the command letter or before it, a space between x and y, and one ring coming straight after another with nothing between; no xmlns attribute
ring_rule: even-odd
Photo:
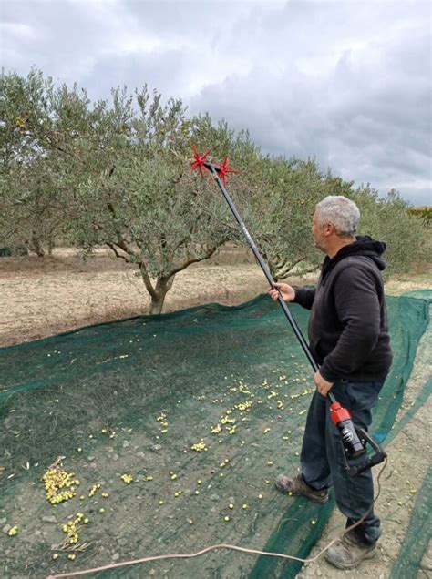
<svg viewBox="0 0 432 579"><path fill-rule="evenodd" d="M0 230L6 244L25 243L38 256L63 228L59 166L87 131L89 100L77 86L55 88L32 68L0 78Z"/></svg>

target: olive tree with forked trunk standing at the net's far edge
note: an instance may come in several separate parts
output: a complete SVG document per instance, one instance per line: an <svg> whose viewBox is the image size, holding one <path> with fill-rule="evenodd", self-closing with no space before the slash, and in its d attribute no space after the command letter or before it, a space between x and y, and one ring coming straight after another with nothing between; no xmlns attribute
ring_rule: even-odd
<svg viewBox="0 0 432 579"><path fill-rule="evenodd" d="M118 258L135 263L149 292L150 312L159 313L175 275L210 258L238 232L211 179L190 172L190 144L200 145L206 132L201 119L188 120L180 100L162 104L146 87L136 96L138 117L129 99L118 98L117 113L105 111L101 120L110 115L112 127L122 116L128 131L109 137L97 131L107 137L104 142L77 140L65 176L68 228L83 248L105 244ZM197 127L200 135L194 136ZM83 163L86 171L80 169ZM77 173L86 178L74 186Z"/></svg>

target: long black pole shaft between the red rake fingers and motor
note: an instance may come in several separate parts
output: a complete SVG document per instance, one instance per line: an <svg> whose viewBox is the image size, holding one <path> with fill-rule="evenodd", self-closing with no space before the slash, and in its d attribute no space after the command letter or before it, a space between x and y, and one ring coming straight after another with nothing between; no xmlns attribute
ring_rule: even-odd
<svg viewBox="0 0 432 579"><path fill-rule="evenodd" d="M219 168L212 165L211 163L207 163L207 162L204 163L204 167L208 168L211 171L211 174L213 175L213 177L216 179L216 182L219 185L219 188L221 189L221 193L222 193L223 197L225 198L226 202L230 206L232 215L234 216L234 218L236 218L238 224L240 225L240 227L242 229L243 235L249 244L249 247L252 249L252 252L253 252L253 255L255 256L255 259L260 264L261 269L262 269L265 277L267 278L267 281L270 284L270 287L274 289L274 279L272 277L272 274L270 273L265 261L262 259L262 256L261 256L260 252L258 251L249 231L246 229L246 226L244 225L244 222L242 220L242 217L240 216L240 213L237 211L237 209L235 208L235 205L232 203L231 197L228 195L228 191L226 190L223 183L221 182L221 178L218 175ZM306 354L306 358L311 363L311 366L313 367L314 371L317 371L319 369L319 366L316 363L316 361L314 360L314 356L312 355L311 350L309 350L309 346L307 345L306 340L304 340L302 330L300 330L300 328L298 327L297 322L293 318L293 314L291 313L291 311L289 310L285 301L283 300L281 292L279 292L278 302L279 302L279 305L281 306L281 308L283 309L283 313L285 314L286 319L290 322L291 327L293 328L293 332L295 334L295 337L297 338L297 340L299 340L300 345L302 346L303 351ZM332 403L336 401L332 391L328 391L327 396L329 397L330 401L332 401Z"/></svg>

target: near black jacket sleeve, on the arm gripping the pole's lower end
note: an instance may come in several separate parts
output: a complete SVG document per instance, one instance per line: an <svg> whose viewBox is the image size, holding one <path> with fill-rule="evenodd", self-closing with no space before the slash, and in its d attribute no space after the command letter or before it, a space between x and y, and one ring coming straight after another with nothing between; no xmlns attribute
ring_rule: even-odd
<svg viewBox="0 0 432 579"><path fill-rule="evenodd" d="M374 273L353 267L341 271L334 285L334 305L343 330L320 368L327 381L335 381L361 368L375 348L380 306Z"/></svg>

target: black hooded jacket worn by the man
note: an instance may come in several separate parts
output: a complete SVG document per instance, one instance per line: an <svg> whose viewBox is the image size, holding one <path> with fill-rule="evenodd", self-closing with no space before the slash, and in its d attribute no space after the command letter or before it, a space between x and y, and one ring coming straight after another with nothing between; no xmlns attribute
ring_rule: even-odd
<svg viewBox="0 0 432 579"><path fill-rule="evenodd" d="M325 257L318 285L295 288L294 301L311 310L310 349L327 381L386 377L392 351L380 271L382 241L367 236Z"/></svg>

